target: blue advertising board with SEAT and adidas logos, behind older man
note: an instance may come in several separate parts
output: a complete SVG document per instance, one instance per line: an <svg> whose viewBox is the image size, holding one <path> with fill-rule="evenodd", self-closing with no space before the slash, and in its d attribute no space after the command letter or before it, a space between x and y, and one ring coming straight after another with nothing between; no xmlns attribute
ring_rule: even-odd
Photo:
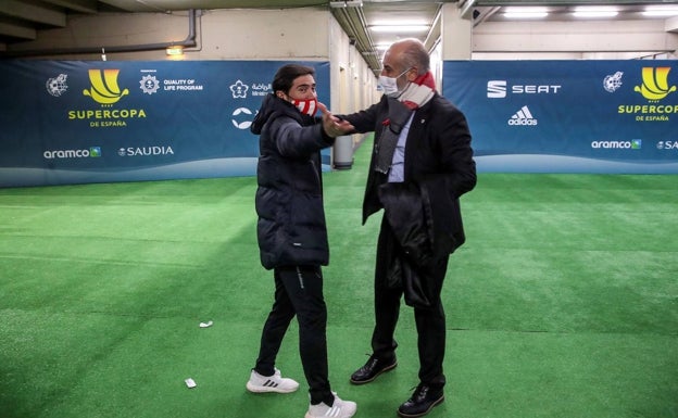
<svg viewBox="0 0 678 418"><path fill-rule="evenodd" d="M678 173L678 63L445 61L481 172Z"/></svg>

